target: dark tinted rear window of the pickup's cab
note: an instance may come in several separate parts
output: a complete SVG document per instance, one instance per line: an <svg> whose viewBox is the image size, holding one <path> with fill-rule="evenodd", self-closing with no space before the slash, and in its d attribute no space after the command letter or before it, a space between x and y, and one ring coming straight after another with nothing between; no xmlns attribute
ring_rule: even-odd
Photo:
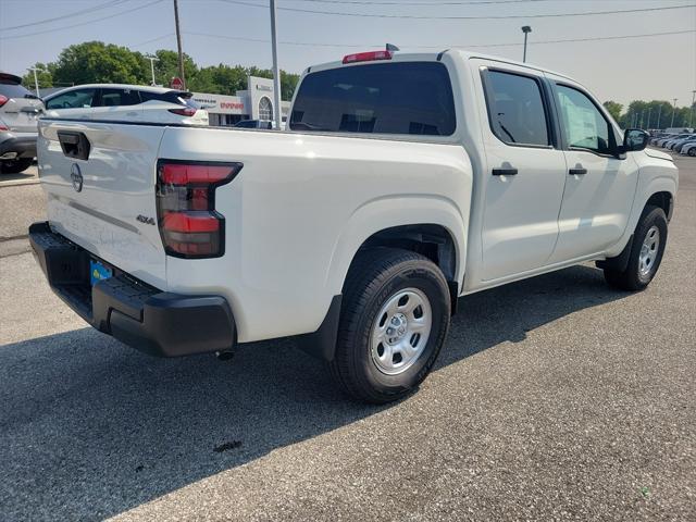
<svg viewBox="0 0 696 522"><path fill-rule="evenodd" d="M439 62L353 65L308 74L290 128L330 133L449 136L455 100Z"/></svg>

